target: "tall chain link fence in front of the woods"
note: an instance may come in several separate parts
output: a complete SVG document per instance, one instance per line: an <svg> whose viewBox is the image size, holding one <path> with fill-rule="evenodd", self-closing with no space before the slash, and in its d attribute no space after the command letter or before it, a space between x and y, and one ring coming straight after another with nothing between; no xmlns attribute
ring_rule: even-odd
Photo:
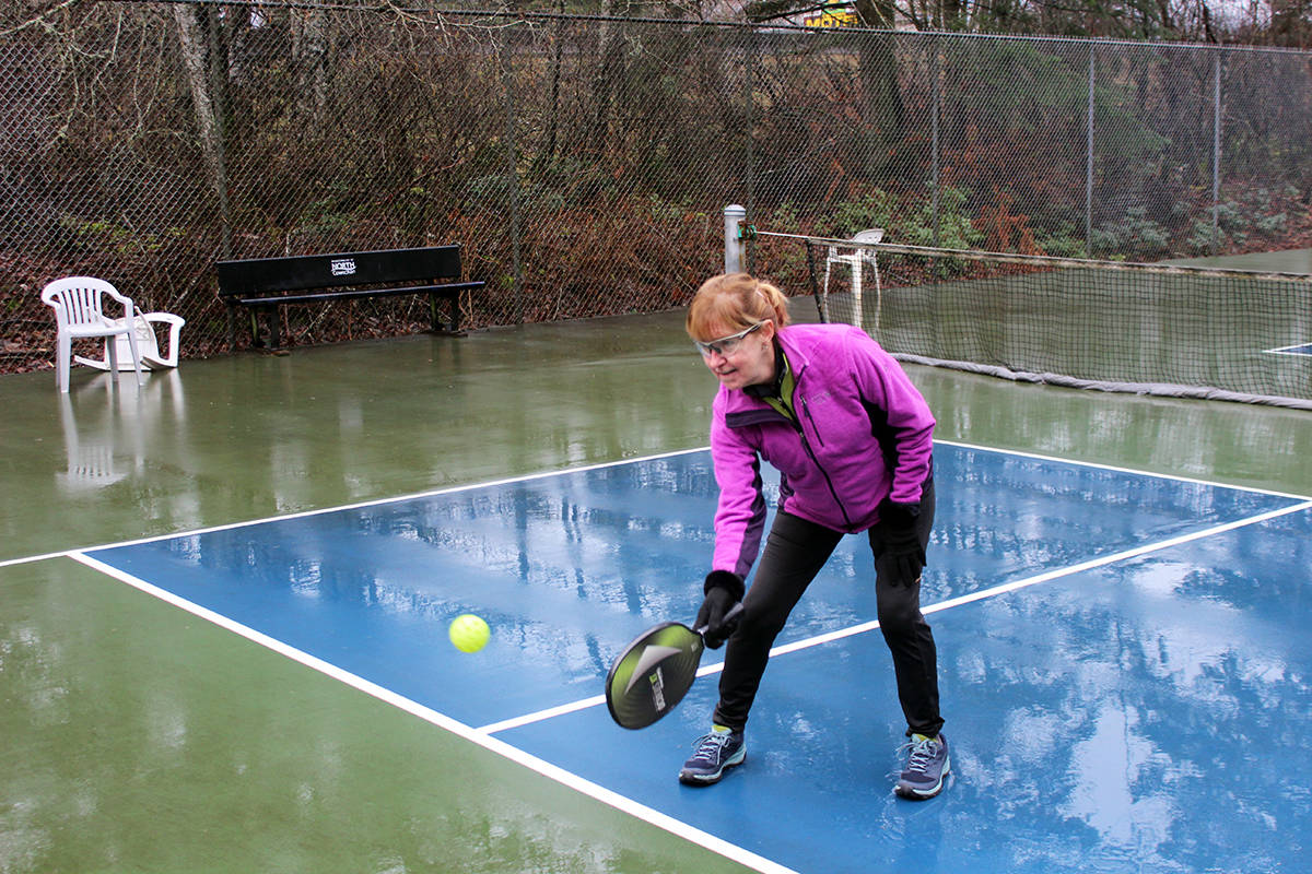
<svg viewBox="0 0 1312 874"><path fill-rule="evenodd" d="M475 328L685 304L771 229L1153 259L1312 245L1312 54L398 8L0 10L0 372L50 279L222 354L214 262L458 242ZM794 254L799 262L802 256ZM760 265L804 292L804 265ZM293 343L422 300L285 307Z"/></svg>

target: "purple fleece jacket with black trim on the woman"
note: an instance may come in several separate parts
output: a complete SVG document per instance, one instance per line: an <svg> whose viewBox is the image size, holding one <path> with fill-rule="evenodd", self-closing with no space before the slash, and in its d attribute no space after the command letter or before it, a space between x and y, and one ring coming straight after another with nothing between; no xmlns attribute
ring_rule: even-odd
<svg viewBox="0 0 1312 874"><path fill-rule="evenodd" d="M720 487L714 570L747 577L761 546L761 460L782 474L779 508L844 532L879 522L879 503L917 503L933 472L934 417L901 366L849 325L778 334L792 371L798 426L723 385L711 409ZM800 430L799 430L800 428Z"/></svg>

